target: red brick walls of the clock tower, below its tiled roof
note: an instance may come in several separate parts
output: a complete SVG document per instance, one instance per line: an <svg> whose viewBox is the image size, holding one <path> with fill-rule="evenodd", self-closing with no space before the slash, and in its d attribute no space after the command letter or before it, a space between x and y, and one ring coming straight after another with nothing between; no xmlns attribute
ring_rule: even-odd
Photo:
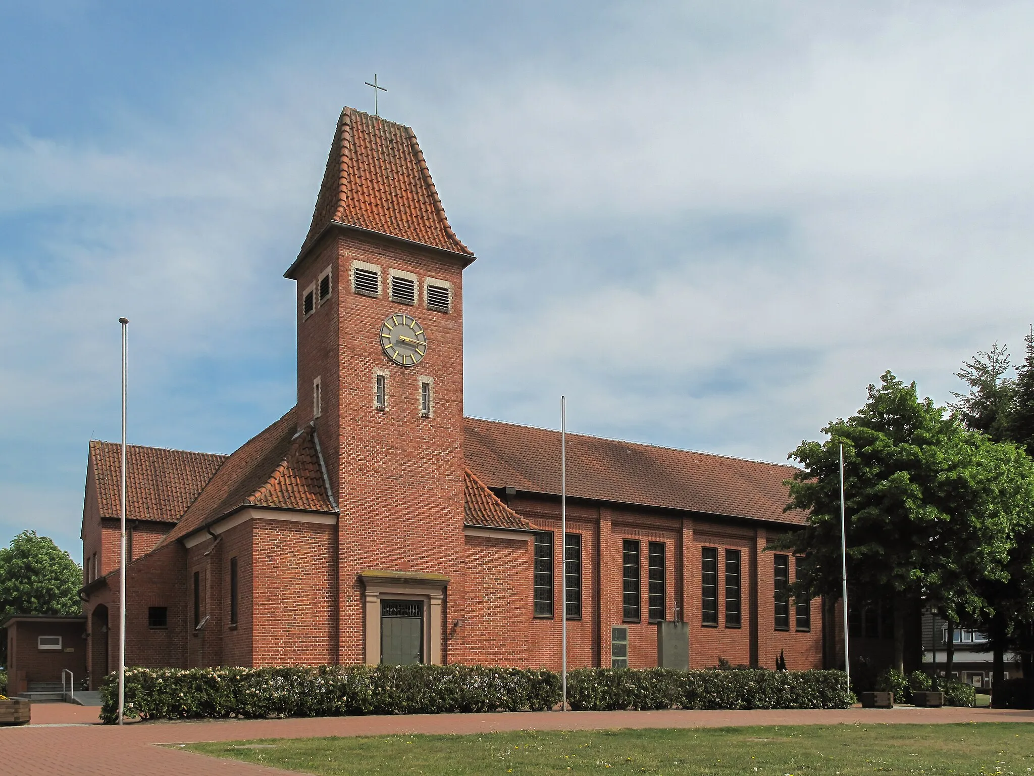
<svg viewBox="0 0 1034 776"><path fill-rule="evenodd" d="M352 292L354 261L381 268L381 298ZM365 659L362 571L423 571L453 580L461 572L464 262L463 257L399 241L333 232L297 272L299 422L311 416L312 379L318 375L324 413L316 428L340 505L339 542L348 547L339 569L337 654L344 663ZM333 266L334 296L302 320L302 294L328 265ZM419 278L416 305L390 300L392 269ZM450 312L426 307L428 277L451 285ZM381 348L381 325L398 312L416 318L427 335L427 355L416 366L398 366ZM374 408L378 369L388 377L385 411ZM433 380L432 417L421 417L421 377ZM455 587L447 593L445 610L450 621L464 616ZM447 660L448 651L446 638Z"/></svg>

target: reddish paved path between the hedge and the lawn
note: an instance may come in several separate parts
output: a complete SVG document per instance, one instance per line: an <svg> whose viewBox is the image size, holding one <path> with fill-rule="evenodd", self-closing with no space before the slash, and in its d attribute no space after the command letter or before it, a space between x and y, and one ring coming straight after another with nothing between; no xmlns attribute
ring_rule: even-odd
<svg viewBox="0 0 1034 776"><path fill-rule="evenodd" d="M1034 711L998 709L845 709L843 711L656 711L428 714L393 717L97 724L96 707L39 704L32 724L0 727L6 773L36 776L224 776L285 774L178 751L158 744L313 736L590 730L613 727L725 727L864 723L1034 722Z"/></svg>

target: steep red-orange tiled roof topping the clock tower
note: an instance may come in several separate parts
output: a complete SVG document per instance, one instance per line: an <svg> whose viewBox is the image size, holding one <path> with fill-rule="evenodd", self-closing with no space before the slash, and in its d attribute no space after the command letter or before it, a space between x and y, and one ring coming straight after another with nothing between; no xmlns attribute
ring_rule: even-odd
<svg viewBox="0 0 1034 776"><path fill-rule="evenodd" d="M413 129L354 108L338 119L299 257L334 222L474 256L449 226Z"/></svg>

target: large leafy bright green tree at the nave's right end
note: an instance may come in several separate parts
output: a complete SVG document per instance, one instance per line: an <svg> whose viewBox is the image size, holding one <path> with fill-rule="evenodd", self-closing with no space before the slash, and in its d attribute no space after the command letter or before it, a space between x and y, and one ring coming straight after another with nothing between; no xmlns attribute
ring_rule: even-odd
<svg viewBox="0 0 1034 776"><path fill-rule="evenodd" d="M957 617L986 602L978 583L1008 578L1013 534L1034 504L1034 467L919 399L915 383L885 372L847 420L802 442L787 509L805 527L778 546L804 555L797 595L839 595L839 447L844 445L848 579L872 601L893 604L894 665L904 669L905 613L923 597Z"/></svg>

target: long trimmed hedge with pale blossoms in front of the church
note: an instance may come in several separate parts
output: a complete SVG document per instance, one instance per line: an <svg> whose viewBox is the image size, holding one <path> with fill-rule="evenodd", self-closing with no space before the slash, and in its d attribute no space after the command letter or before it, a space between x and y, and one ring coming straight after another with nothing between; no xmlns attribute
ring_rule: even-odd
<svg viewBox="0 0 1034 776"><path fill-rule="evenodd" d="M118 721L116 675L104 680L101 694L101 719ZM841 671L568 674L576 710L843 709L850 699ZM126 715L139 719L545 711L559 702L558 674L481 665L126 669Z"/></svg>

